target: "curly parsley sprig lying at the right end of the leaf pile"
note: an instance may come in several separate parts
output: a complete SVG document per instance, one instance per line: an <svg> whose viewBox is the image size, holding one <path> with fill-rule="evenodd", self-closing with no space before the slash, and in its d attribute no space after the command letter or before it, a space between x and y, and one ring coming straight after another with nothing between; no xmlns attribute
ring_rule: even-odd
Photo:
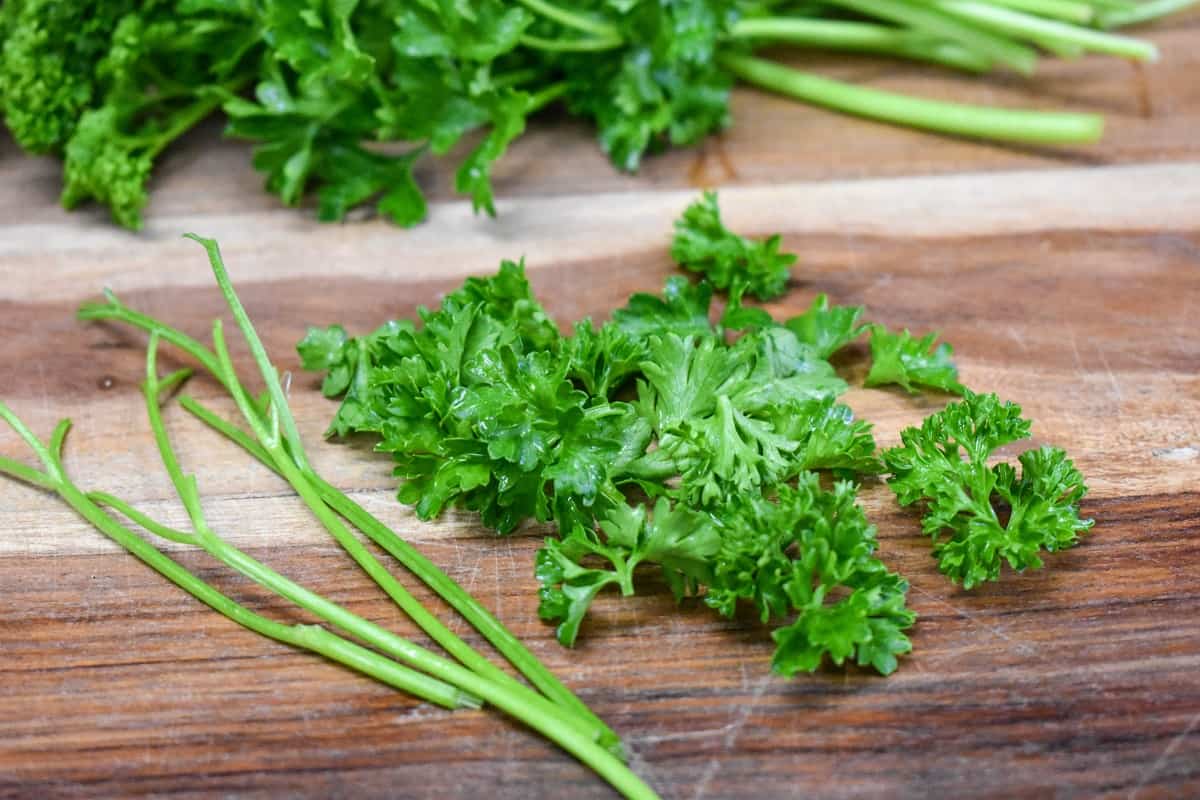
<svg viewBox="0 0 1200 800"><path fill-rule="evenodd" d="M1087 487L1062 450L1021 453L1020 475L1007 463L988 467L997 447L1028 434L1019 405L967 391L883 452L896 499L923 505L938 567L965 589L995 581L1004 561L1040 569L1042 551L1072 547L1092 527L1079 517Z"/></svg>

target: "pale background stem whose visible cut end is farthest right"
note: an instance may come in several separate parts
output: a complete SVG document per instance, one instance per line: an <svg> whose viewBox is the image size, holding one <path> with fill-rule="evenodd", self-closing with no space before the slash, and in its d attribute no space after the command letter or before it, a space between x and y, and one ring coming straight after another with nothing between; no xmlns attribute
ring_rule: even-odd
<svg viewBox="0 0 1200 800"><path fill-rule="evenodd" d="M1038 43L1066 46L1085 52L1106 53L1138 61L1153 61L1158 49L1150 42L1043 19L1010 8L976 0L934 0L948 14L1009 36L1024 36Z"/></svg>

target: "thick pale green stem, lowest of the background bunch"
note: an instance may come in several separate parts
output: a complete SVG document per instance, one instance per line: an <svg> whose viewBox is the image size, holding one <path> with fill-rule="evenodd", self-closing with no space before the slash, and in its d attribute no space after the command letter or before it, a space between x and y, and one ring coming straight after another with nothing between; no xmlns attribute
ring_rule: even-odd
<svg viewBox="0 0 1200 800"><path fill-rule="evenodd" d="M721 64L751 84L834 110L928 131L1026 144L1096 142L1104 119L1094 114L1028 112L922 100L866 89L745 55Z"/></svg>

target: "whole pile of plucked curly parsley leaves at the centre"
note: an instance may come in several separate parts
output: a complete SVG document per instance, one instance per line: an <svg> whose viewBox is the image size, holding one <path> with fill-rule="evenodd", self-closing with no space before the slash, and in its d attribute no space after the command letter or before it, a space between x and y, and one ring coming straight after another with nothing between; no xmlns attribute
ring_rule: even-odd
<svg viewBox="0 0 1200 800"><path fill-rule="evenodd" d="M505 261L416 323L355 338L311 329L299 345L305 367L325 373L324 393L343 397L330 433L377 437L421 518L455 506L500 534L552 525L535 573L539 613L563 644L602 590L632 595L656 571L677 599L722 615L751 606L774 627L781 674L824 660L888 674L911 649L914 615L854 481L887 474L901 504L924 504L938 564L965 588L995 579L1002 560L1037 569L1040 551L1090 527L1062 451L1022 455L1019 477L988 467L1028 422L964 389L948 345L871 327L871 383L964 396L881 458L871 426L838 402L847 385L828 361L868 330L862 307L821 295L776 323L733 302L778 294L794 257L778 237L727 230L712 194L677 223L672 252L712 282L673 277L570 335L523 266ZM718 323L714 284L731 295Z"/></svg>

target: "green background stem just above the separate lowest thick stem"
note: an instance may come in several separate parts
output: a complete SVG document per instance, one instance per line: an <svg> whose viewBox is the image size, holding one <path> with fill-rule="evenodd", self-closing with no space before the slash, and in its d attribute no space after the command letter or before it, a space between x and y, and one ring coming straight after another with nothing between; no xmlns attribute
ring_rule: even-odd
<svg viewBox="0 0 1200 800"><path fill-rule="evenodd" d="M985 72L991 61L954 42L874 23L798 17L756 17L733 24L730 37L800 47L877 53L930 61L954 70Z"/></svg>

